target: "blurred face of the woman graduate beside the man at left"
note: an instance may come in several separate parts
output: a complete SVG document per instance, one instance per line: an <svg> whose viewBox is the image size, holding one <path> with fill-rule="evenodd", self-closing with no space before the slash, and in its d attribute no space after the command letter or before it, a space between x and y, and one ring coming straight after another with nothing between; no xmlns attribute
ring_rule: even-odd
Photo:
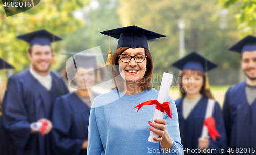
<svg viewBox="0 0 256 155"><path fill-rule="evenodd" d="M74 79L78 89L84 89L84 87L87 89L87 87L93 86L95 84L96 75L93 67L88 69L79 67L77 70L79 73L84 73L83 76L80 75Z"/></svg>

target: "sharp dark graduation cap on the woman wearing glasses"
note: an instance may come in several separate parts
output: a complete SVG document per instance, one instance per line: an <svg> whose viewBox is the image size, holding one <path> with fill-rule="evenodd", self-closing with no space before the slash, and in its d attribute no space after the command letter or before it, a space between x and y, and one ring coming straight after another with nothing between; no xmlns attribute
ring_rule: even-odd
<svg viewBox="0 0 256 155"><path fill-rule="evenodd" d="M100 33L119 39L117 49L124 46L148 49L147 40L166 37L165 35L149 31L135 25L102 31Z"/></svg>

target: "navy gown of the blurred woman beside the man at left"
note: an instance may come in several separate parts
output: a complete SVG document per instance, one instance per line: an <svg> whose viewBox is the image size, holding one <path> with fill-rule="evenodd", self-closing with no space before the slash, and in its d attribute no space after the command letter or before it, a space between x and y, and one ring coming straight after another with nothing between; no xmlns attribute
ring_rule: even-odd
<svg viewBox="0 0 256 155"><path fill-rule="evenodd" d="M85 155L90 107L74 92L59 97L53 108L53 148L57 155Z"/></svg>

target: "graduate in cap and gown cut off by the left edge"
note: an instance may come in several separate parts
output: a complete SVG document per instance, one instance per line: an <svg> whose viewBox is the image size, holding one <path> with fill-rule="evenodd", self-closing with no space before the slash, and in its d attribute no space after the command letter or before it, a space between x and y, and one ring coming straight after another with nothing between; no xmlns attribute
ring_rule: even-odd
<svg viewBox="0 0 256 155"><path fill-rule="evenodd" d="M14 67L0 58L0 69L14 69ZM3 75L3 74L2 74ZM0 76L1 77L1 76ZM6 91L6 81L4 77L1 77L1 84L0 84L0 154L1 155L12 155L14 154L13 148L12 148L12 141L9 132L6 130L3 124L2 119L2 97L4 94L4 91Z"/></svg>

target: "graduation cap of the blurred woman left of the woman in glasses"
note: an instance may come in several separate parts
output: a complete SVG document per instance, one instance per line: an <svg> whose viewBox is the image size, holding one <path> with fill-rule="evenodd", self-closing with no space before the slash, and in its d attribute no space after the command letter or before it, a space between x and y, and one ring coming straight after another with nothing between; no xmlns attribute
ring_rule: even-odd
<svg viewBox="0 0 256 155"><path fill-rule="evenodd" d="M97 56L108 56L107 54L93 54L93 53L61 53L74 56L75 67L91 68L97 64Z"/></svg>

